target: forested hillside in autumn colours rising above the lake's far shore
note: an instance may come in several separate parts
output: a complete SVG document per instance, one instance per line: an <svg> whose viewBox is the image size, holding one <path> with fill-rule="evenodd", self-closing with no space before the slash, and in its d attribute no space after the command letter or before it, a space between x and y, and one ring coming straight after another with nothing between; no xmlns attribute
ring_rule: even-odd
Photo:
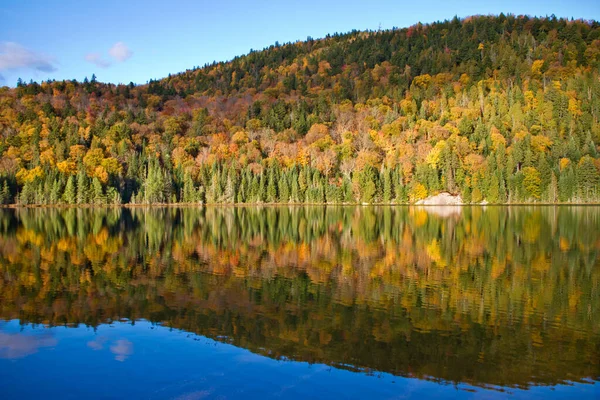
<svg viewBox="0 0 600 400"><path fill-rule="evenodd" d="M477 16L0 89L4 204L600 201L600 24Z"/></svg>

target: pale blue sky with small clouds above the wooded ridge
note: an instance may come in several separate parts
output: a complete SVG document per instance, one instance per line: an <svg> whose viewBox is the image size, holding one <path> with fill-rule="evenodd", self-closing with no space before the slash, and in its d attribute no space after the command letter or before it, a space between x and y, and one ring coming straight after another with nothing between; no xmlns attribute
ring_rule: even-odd
<svg viewBox="0 0 600 400"><path fill-rule="evenodd" d="M146 83L207 62L352 29L500 12L600 20L600 1L2 0L0 85L21 77Z"/></svg>

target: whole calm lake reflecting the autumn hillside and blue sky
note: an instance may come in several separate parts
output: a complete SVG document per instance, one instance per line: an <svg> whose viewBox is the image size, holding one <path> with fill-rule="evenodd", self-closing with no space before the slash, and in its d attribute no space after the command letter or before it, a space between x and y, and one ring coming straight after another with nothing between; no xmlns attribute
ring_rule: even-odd
<svg viewBox="0 0 600 400"><path fill-rule="evenodd" d="M0 398L440 396L600 396L600 207L0 210Z"/></svg>

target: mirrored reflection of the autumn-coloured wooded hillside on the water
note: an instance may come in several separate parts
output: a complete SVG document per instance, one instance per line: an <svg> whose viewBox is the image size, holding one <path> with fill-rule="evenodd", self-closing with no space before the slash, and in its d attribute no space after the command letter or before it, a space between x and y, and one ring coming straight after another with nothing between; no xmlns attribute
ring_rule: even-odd
<svg viewBox="0 0 600 400"><path fill-rule="evenodd" d="M474 384L598 377L600 210L20 210L0 318L146 318L292 359Z"/></svg>

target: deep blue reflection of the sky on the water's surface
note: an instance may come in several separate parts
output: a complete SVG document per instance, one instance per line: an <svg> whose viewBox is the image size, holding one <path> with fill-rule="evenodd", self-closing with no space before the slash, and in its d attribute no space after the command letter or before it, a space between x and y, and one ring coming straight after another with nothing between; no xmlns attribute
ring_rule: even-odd
<svg viewBox="0 0 600 400"><path fill-rule="evenodd" d="M482 389L274 360L148 321L96 329L0 325L0 390L12 398L594 398L598 385ZM28 343L24 346L21 343ZM33 383L34 382L34 383Z"/></svg>

